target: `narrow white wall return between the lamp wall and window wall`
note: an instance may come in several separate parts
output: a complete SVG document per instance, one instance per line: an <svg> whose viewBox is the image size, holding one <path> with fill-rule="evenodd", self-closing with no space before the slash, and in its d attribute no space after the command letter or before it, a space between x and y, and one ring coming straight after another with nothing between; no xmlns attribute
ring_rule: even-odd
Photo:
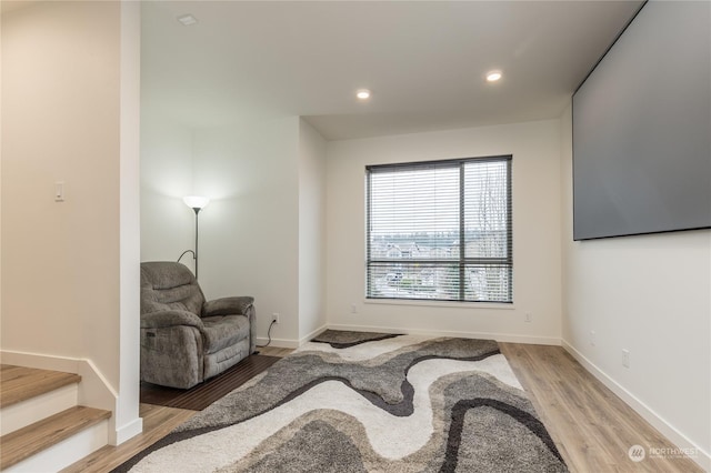
<svg viewBox="0 0 711 473"><path fill-rule="evenodd" d="M299 120L299 340L326 325L326 140Z"/></svg>

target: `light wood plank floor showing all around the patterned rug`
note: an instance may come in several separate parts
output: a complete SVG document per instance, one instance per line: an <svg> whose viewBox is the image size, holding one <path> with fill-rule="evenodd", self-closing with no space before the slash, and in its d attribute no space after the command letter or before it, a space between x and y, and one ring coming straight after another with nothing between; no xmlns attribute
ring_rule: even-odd
<svg viewBox="0 0 711 473"><path fill-rule="evenodd" d="M541 421L571 472L703 472L689 459L628 457L630 446L673 449L667 439L588 373L560 346L500 343L529 393ZM261 349L286 356L289 349ZM141 404L143 433L119 446L106 446L64 472L107 472L194 415L193 411Z"/></svg>

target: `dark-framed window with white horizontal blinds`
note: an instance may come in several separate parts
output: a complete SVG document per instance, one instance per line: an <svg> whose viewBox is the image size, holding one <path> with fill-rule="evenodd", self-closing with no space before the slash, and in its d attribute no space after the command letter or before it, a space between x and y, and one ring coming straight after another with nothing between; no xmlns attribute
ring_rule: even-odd
<svg viewBox="0 0 711 473"><path fill-rule="evenodd" d="M367 298L512 302L511 157L367 168Z"/></svg>

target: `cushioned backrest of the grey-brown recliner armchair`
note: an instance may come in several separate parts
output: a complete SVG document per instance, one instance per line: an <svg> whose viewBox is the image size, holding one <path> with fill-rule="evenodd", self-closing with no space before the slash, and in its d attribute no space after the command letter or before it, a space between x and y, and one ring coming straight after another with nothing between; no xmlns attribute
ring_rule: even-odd
<svg viewBox="0 0 711 473"><path fill-rule="evenodd" d="M192 312L200 316L204 295L196 276L182 263L141 263L141 314L166 310Z"/></svg>

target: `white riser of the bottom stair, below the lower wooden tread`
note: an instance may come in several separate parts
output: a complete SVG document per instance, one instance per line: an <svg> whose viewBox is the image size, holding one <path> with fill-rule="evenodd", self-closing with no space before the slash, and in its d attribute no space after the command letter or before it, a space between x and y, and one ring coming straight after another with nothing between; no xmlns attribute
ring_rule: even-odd
<svg viewBox="0 0 711 473"><path fill-rule="evenodd" d="M109 421L94 424L76 435L43 450L8 469L3 473L58 472L109 442Z"/></svg>

